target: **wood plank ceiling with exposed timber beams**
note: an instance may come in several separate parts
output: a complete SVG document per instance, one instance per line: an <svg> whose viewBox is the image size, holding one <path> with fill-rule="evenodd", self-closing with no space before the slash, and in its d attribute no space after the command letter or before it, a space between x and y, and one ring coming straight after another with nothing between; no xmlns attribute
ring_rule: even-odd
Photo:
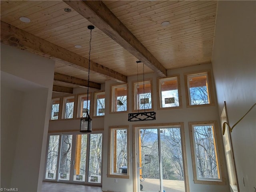
<svg viewBox="0 0 256 192"><path fill-rule="evenodd" d="M217 1L1 0L1 43L55 59L54 85L86 87L87 26L94 25L89 87L99 89L108 79L127 82L137 74L138 60L145 73L160 77L167 69L210 63L216 6ZM164 21L170 24L162 26Z"/></svg>

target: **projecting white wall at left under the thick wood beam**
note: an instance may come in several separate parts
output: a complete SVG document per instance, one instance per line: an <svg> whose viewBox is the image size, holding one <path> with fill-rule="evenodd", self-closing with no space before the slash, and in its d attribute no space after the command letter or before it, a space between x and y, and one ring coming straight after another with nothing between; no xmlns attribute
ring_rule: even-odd
<svg viewBox="0 0 256 192"><path fill-rule="evenodd" d="M11 172L11 176L5 182L19 191L35 192L42 187L53 77L54 61L1 44L1 92L8 91L4 87L14 89L8 91L11 97L17 97L15 94L18 91L23 92L22 99L15 103L21 109L20 120L15 120L17 127L13 127L10 119L3 119L1 116L1 137L6 140L14 139L13 142L16 143L14 161L8 164L8 174ZM8 95L1 94L1 105L6 101L9 101ZM6 107L3 110L10 114L15 108ZM10 121L14 121L14 118ZM10 136L9 130L13 129L16 129L16 138ZM1 140L1 150L2 148L13 150L14 146L9 148ZM8 156L1 156L1 166L8 160ZM3 175L1 169L1 176ZM2 177L1 187L5 187Z"/></svg>

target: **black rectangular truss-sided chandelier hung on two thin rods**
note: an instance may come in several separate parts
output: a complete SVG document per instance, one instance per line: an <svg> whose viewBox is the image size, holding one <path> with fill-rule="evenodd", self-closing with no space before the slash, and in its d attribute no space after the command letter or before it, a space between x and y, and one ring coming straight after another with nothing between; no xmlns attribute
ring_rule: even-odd
<svg viewBox="0 0 256 192"><path fill-rule="evenodd" d="M136 61L137 63L137 83L138 83L138 63L141 61ZM137 93L138 94L138 93ZM145 85L144 85L144 63L143 63L143 95L145 96ZM144 102L144 112L139 112L140 99L138 94L138 113L129 113L128 121L150 121L156 120L156 112L154 111L146 111L145 102Z"/></svg>

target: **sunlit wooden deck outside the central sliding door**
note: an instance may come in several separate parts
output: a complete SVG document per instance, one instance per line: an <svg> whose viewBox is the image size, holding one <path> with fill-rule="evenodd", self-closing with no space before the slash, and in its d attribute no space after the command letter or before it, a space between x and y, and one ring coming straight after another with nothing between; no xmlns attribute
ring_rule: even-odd
<svg viewBox="0 0 256 192"><path fill-rule="evenodd" d="M144 192L159 192L160 191L160 180L159 179L149 179L145 178L143 182L142 191ZM184 181L175 180L163 180L164 191L165 192L185 192Z"/></svg>

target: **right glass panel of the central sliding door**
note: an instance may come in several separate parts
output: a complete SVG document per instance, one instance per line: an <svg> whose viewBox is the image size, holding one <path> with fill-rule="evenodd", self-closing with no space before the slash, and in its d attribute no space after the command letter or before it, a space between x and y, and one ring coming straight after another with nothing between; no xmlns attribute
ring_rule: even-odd
<svg viewBox="0 0 256 192"><path fill-rule="evenodd" d="M160 129L163 190L185 192L180 128Z"/></svg>

